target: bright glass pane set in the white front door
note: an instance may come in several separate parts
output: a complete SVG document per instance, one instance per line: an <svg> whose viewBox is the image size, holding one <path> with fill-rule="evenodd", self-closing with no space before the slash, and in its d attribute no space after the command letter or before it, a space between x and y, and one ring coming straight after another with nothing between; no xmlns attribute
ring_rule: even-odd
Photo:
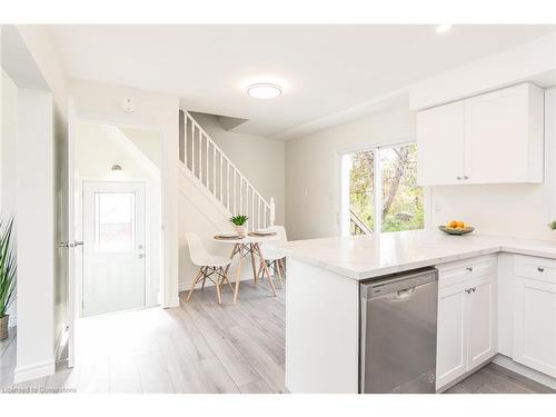
<svg viewBox="0 0 556 417"><path fill-rule="evenodd" d="M95 192L95 237L100 251L136 247L136 196L133 192Z"/></svg>

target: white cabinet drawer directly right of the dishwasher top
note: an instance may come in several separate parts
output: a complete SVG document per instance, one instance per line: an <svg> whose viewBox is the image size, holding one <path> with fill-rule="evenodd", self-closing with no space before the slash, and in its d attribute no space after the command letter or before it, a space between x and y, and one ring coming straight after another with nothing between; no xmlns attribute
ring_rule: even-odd
<svg viewBox="0 0 556 417"><path fill-rule="evenodd" d="M469 279L493 275L496 272L496 256L481 256L458 260L449 264L437 265L438 286L445 288Z"/></svg>

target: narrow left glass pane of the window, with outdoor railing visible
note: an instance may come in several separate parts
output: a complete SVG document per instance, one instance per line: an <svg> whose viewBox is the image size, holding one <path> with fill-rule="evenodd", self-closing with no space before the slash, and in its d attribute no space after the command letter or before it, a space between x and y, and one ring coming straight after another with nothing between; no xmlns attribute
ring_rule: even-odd
<svg viewBox="0 0 556 417"><path fill-rule="evenodd" d="M375 153L365 150L350 156L349 229L351 235L368 235L375 226Z"/></svg>

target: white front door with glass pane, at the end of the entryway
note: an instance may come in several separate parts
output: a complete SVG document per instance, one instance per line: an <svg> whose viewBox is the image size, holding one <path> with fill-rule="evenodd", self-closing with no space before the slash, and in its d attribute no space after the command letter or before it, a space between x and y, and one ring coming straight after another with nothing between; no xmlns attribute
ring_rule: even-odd
<svg viewBox="0 0 556 417"><path fill-rule="evenodd" d="M145 185L83 182L82 316L145 306Z"/></svg>

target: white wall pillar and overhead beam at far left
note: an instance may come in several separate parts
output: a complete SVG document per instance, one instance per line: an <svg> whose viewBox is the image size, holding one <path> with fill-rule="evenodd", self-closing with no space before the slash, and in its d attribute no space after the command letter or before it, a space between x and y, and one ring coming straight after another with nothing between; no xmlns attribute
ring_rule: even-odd
<svg viewBox="0 0 556 417"><path fill-rule="evenodd" d="M66 75L40 26L2 26L2 67L18 87L16 380L53 371L67 322ZM53 103L53 105L52 105Z"/></svg>

